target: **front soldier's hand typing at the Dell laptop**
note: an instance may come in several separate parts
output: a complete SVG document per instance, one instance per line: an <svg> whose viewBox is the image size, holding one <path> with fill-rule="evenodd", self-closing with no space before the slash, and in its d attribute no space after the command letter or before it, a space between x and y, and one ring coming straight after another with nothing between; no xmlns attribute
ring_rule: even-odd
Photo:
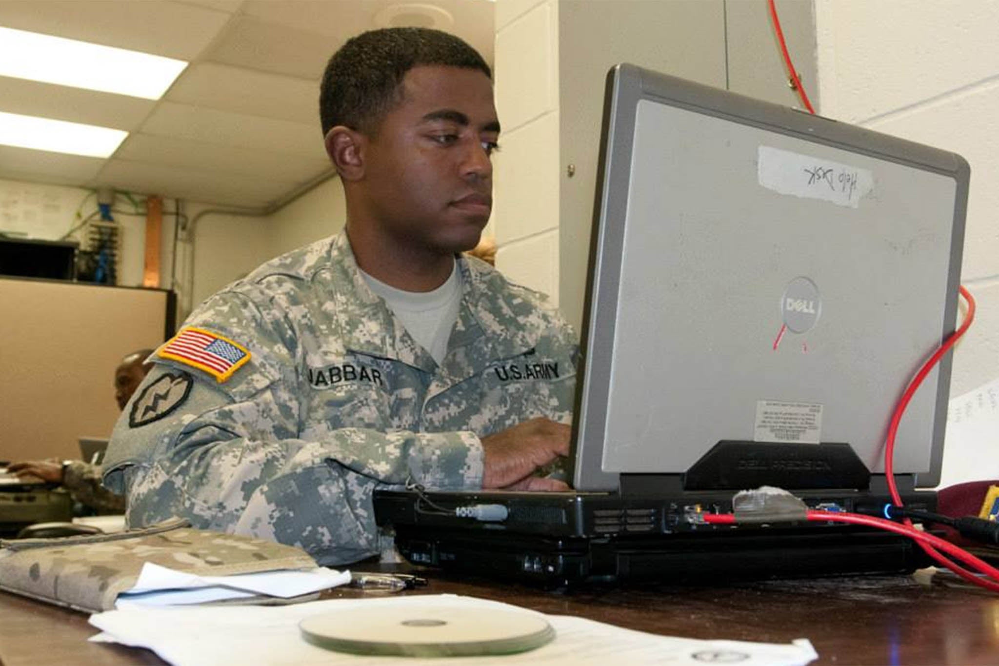
<svg viewBox="0 0 999 666"><path fill-rule="evenodd" d="M537 417L483 437L486 451L483 487L567 490L562 481L531 474L555 457L568 455L571 432L572 428L564 423Z"/></svg>

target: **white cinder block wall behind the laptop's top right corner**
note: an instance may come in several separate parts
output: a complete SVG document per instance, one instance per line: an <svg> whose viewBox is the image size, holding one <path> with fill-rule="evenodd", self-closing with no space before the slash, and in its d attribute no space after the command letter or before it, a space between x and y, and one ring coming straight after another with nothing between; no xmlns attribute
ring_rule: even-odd
<svg viewBox="0 0 999 666"><path fill-rule="evenodd" d="M962 283L978 315L954 355L960 395L999 376L999 2L814 3L818 112L971 164Z"/></svg>

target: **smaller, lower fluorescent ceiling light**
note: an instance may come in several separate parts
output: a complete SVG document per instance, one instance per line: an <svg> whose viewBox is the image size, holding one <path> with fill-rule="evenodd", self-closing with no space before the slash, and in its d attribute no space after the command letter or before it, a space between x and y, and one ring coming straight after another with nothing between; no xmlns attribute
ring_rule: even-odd
<svg viewBox="0 0 999 666"><path fill-rule="evenodd" d="M36 151L110 157L128 132L0 112L0 144Z"/></svg>

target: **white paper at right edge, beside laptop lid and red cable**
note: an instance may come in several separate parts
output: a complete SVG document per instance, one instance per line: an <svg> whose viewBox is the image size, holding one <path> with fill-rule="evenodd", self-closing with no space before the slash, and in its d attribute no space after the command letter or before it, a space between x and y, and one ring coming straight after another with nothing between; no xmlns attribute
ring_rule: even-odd
<svg viewBox="0 0 999 666"><path fill-rule="evenodd" d="M939 488L999 478L999 379L950 400Z"/></svg>

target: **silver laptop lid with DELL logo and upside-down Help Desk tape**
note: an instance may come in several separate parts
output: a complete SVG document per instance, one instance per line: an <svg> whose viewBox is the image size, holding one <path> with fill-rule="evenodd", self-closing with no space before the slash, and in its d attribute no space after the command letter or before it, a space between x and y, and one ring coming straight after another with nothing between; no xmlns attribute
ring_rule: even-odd
<svg viewBox="0 0 999 666"><path fill-rule="evenodd" d="M607 80L573 483L682 473L719 440L847 442L871 472L954 330L959 156L618 65ZM950 355L898 432L940 474Z"/></svg>

